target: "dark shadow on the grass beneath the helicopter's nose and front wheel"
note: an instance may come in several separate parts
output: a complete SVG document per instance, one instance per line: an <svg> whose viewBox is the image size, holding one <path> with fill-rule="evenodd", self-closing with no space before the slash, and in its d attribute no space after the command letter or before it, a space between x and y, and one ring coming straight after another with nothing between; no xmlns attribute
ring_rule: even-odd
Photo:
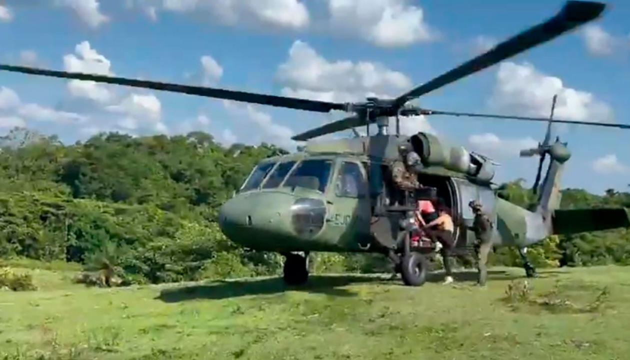
<svg viewBox="0 0 630 360"><path fill-rule="evenodd" d="M314 275L309 277L307 284L302 286L288 286L282 277L272 277L255 280L220 281L210 284L173 287L163 289L157 299L165 303L178 303L195 299L228 299L252 295L281 294L285 291L301 291L306 293L326 294L329 296L356 296L355 293L341 287L361 284L386 282L387 279L374 276L354 275Z"/></svg>

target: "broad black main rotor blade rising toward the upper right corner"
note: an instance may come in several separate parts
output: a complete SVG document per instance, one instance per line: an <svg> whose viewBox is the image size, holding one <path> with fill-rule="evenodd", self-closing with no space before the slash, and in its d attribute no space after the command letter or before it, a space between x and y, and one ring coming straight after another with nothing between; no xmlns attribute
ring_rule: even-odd
<svg viewBox="0 0 630 360"><path fill-rule="evenodd" d="M394 101L394 107L400 108L404 103L411 100L411 98L425 95L437 88L441 88L470 74L481 71L486 67L508 59L520 52L541 45L588 21L595 20L602 11L604 11L604 8L605 4L593 1L567 1L559 13L553 16L553 18L549 18L549 20L539 25L532 26L515 37L496 45L496 47L488 52L399 96Z"/></svg>

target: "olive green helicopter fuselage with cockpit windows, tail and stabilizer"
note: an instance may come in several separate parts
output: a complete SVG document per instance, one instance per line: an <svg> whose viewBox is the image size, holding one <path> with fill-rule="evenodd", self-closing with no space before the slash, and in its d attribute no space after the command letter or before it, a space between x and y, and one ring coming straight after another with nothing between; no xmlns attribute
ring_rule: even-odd
<svg viewBox="0 0 630 360"><path fill-rule="evenodd" d="M221 207L224 234L246 248L272 252L384 252L396 246L402 213L378 211L388 190L387 168L398 160L398 145L411 142L423 160L416 169L423 185L437 189L455 224L455 247L469 247L478 200L493 224L495 246L527 247L554 233L630 226L623 209L604 213L558 211L559 179L570 153L557 142L529 211L496 196L491 161L437 137L371 136L314 142L306 151L259 163L232 199ZM603 214L603 215L602 215ZM609 219L609 221L602 221ZM580 226L571 218L581 219Z"/></svg>

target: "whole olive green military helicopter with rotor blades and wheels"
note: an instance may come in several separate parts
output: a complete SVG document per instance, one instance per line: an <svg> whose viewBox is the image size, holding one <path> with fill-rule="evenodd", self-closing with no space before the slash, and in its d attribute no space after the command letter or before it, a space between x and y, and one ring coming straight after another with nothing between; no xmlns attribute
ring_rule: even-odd
<svg viewBox="0 0 630 360"><path fill-rule="evenodd" d="M630 125L553 119L553 107L551 117L537 118L429 110L408 102L570 32L598 18L604 8L602 3L568 1L548 20L398 98L368 98L357 103L322 102L23 66L0 65L0 70L311 112L341 110L353 113L350 117L293 137L296 141L308 142L297 153L267 158L258 163L238 192L221 207L219 223L228 238L246 248L285 256L284 279L287 284L299 285L307 281L311 252L381 253L391 258L405 284L420 286L425 282L427 256L435 253L435 245L429 243L411 247L406 219L414 210L413 202L403 197L407 201L392 204L397 193L391 186L390 169L392 163L400 159L399 146L403 144L419 155L421 164L414 171L423 189L428 189L415 194L416 199L438 197L450 209L455 224L455 252L467 251L473 244L474 234L469 227L474 216L468 204L471 200L478 200L493 222L495 247L518 248L525 260L527 276L534 276L535 269L527 262L523 250L547 236L630 227L630 213L626 209L559 209L560 178L571 154L566 142L558 138L551 142L551 125L558 122L621 129L630 129ZM490 158L447 144L443 139L425 132L413 136L401 135L400 118L417 115L547 122L544 141L537 148L521 151L521 156L540 156L534 183L534 190L539 194L536 206L524 209L498 197L496 184L492 182L497 164ZM394 117L396 133L389 134L389 119ZM370 135L370 124L377 125L377 134ZM313 140L360 126L367 128L367 136L333 141ZM546 156L550 158L549 165L540 183ZM348 183L354 186L348 187Z"/></svg>

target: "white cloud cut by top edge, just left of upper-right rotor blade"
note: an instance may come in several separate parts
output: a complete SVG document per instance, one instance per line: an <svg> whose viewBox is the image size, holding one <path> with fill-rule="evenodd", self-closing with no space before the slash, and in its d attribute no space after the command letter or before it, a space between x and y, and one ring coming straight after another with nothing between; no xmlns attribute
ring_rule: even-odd
<svg viewBox="0 0 630 360"><path fill-rule="evenodd" d="M379 47L402 47L437 35L425 13L406 0L328 0L331 27Z"/></svg>

